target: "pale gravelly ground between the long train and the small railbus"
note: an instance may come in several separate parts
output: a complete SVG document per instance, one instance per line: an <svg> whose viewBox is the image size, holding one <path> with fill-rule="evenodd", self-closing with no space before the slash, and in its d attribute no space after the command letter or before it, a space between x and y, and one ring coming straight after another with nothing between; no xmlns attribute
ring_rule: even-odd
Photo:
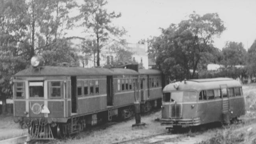
<svg viewBox="0 0 256 144"><path fill-rule="evenodd" d="M132 138L145 137L158 133L164 133L165 126L160 126L160 122L155 121L161 115L158 112L148 114L141 117L141 122L146 123L145 126L132 127L135 124L135 119L118 122L115 124L104 124L103 126L93 127L90 130L85 130L79 133L72 139L59 141L59 144L109 144Z"/></svg>

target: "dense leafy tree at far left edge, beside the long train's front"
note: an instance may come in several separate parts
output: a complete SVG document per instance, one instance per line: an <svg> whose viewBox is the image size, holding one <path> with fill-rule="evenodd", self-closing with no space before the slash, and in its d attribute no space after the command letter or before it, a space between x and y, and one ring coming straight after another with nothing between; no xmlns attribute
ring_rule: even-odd
<svg viewBox="0 0 256 144"><path fill-rule="evenodd" d="M22 0L0 0L0 3L0 98L5 113L6 98L12 93L10 78L26 67L18 47L26 31L26 4Z"/></svg>

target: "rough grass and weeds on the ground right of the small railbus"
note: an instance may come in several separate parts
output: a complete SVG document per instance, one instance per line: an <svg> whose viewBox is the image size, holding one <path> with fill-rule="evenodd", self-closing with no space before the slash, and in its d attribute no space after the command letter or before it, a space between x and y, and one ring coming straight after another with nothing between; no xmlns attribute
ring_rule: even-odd
<svg viewBox="0 0 256 144"><path fill-rule="evenodd" d="M241 124L232 124L198 144L256 144L256 83L243 85L246 114Z"/></svg>

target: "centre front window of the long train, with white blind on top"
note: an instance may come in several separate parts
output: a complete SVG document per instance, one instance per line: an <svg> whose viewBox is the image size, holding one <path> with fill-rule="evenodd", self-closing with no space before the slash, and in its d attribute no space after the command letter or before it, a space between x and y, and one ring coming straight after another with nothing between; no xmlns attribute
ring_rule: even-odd
<svg viewBox="0 0 256 144"><path fill-rule="evenodd" d="M29 96L32 98L44 97L44 82L29 82Z"/></svg>

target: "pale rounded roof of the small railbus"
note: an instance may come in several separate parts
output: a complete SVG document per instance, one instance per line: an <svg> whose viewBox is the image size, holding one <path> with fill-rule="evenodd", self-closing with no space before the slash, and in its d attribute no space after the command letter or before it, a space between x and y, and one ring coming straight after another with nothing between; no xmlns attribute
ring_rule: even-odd
<svg viewBox="0 0 256 144"><path fill-rule="evenodd" d="M241 84L231 78L212 78L212 79L189 79L186 81L176 82L179 84L178 90L207 90L220 89L220 85L227 85L227 87L241 87ZM174 83L166 85L163 92L176 90Z"/></svg>

